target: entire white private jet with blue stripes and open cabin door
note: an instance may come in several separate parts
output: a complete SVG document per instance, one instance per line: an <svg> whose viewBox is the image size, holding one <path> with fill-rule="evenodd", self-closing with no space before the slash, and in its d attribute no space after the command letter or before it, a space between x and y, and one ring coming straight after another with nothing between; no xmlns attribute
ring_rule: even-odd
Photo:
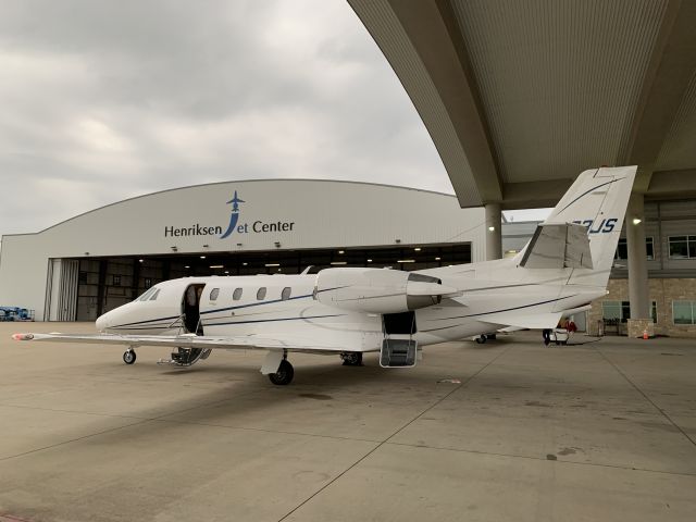
<svg viewBox="0 0 696 522"><path fill-rule="evenodd" d="M185 277L160 283L97 320L100 334L16 340L167 346L188 366L215 349L262 349L261 373L293 381L291 352L412 366L426 345L502 328L552 328L606 295L635 166L583 172L514 258L417 272L330 268L318 274Z"/></svg>

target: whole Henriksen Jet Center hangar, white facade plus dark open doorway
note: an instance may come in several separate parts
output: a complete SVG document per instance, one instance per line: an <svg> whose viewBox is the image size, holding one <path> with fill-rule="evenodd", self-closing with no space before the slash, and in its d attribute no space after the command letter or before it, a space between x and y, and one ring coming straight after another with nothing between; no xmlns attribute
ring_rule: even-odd
<svg viewBox="0 0 696 522"><path fill-rule="evenodd" d="M480 261L486 234L483 209L446 194L309 179L197 185L4 236L0 303L38 321L91 321L186 275Z"/></svg>

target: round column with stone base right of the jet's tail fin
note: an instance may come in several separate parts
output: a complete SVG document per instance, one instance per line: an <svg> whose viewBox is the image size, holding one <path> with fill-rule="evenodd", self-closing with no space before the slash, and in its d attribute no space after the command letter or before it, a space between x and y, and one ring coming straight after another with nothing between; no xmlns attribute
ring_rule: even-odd
<svg viewBox="0 0 696 522"><path fill-rule="evenodd" d="M645 249L645 214L644 196L632 194L626 212L626 247L629 251L629 300L631 319L629 320L629 337L641 337L645 330L654 335L646 320L650 318L650 300L648 297L648 265ZM639 222L638 222L639 220Z"/></svg>

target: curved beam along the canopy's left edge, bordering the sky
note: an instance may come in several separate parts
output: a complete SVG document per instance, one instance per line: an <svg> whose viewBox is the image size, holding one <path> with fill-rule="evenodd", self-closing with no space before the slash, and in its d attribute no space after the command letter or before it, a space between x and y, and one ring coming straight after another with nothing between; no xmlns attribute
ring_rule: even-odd
<svg viewBox="0 0 696 522"><path fill-rule="evenodd" d="M502 200L502 184L467 49L451 5L439 0L348 0L419 111L462 207ZM394 20L393 20L394 18ZM406 41L386 52L398 33ZM411 50L412 49L412 50ZM423 74L414 74L414 53ZM434 104L420 103L424 95ZM443 124L443 120L446 124ZM443 128L447 128L443 135ZM457 150L456 150L457 149ZM471 179L473 178L473 179ZM473 182L473 183L472 183ZM477 194L472 194L475 187Z"/></svg>

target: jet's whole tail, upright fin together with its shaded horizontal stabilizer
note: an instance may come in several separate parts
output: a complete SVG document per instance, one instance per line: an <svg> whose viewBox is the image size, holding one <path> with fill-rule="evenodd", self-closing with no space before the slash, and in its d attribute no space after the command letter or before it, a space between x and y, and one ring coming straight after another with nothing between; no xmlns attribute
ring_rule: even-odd
<svg viewBox="0 0 696 522"><path fill-rule="evenodd" d="M585 171L521 252L530 269L571 268L568 284L606 287L636 166Z"/></svg>

